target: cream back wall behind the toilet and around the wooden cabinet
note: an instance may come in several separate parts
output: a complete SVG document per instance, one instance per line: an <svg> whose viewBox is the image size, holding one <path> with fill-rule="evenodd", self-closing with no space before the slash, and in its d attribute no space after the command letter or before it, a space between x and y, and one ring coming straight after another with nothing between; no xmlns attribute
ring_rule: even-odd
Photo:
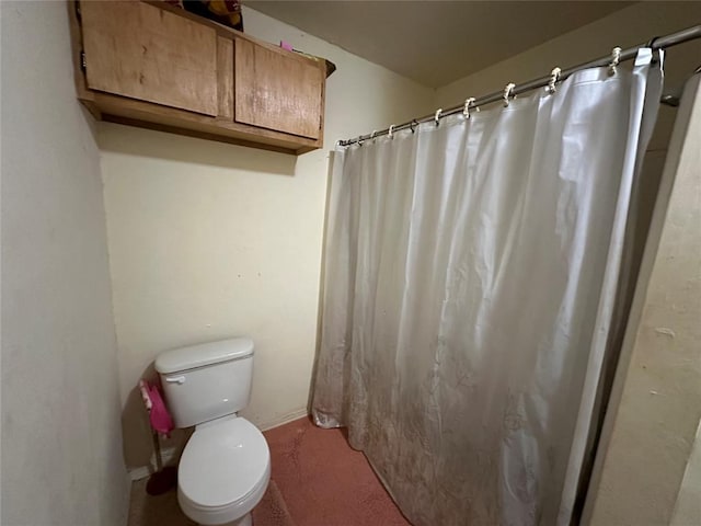
<svg viewBox="0 0 701 526"><path fill-rule="evenodd" d="M323 150L295 158L100 125L130 467L146 465L151 451L134 387L173 346L251 335L255 371L243 414L269 427L306 413L327 150L430 107L433 90L250 9L244 21L250 34L338 67L326 82Z"/></svg>

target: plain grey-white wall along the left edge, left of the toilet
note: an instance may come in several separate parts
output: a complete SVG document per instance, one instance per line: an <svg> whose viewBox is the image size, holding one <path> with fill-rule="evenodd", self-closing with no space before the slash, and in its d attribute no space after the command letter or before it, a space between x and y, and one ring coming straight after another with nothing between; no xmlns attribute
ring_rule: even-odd
<svg viewBox="0 0 701 526"><path fill-rule="evenodd" d="M126 524L99 151L64 2L1 2L2 516Z"/></svg>

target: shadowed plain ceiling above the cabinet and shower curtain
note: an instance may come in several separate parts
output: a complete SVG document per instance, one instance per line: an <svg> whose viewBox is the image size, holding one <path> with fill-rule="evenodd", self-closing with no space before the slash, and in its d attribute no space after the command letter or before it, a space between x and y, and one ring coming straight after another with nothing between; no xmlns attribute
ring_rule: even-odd
<svg viewBox="0 0 701 526"><path fill-rule="evenodd" d="M424 85L439 88L634 2L244 3Z"/></svg>

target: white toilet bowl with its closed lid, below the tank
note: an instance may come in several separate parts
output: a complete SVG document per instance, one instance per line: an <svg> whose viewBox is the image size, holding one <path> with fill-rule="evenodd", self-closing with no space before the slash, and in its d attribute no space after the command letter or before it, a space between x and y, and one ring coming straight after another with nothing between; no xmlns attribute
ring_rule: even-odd
<svg viewBox="0 0 701 526"><path fill-rule="evenodd" d="M193 521L223 524L250 513L271 478L267 442L242 418L198 426L177 469L177 500Z"/></svg>

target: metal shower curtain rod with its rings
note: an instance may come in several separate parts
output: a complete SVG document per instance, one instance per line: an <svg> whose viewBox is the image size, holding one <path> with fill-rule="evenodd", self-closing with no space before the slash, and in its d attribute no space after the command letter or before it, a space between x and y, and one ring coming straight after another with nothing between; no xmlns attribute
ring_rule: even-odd
<svg viewBox="0 0 701 526"><path fill-rule="evenodd" d="M491 104L493 102L508 100L509 96L515 96L520 93L525 93L526 91L535 90L537 88L543 88L545 85L551 84L551 82L561 82L565 80L571 75L582 70L589 68L599 68L604 66L616 66L619 61L630 60L635 57L637 50L641 47L650 47L653 50L655 49L664 49L667 47L676 46L677 44L683 44L685 42L693 41L696 38L701 38L701 24L693 25L691 27L687 27L686 30L678 31L676 33L671 33L666 36L657 36L652 38L651 41L639 44L637 46L629 47L628 49L621 50L620 47L613 49L612 55L607 57L601 57L596 60L591 60L586 64L581 64L579 66L574 66L572 68L565 69L555 73L555 70L547 77L541 77L539 79L533 79L528 82L524 82L522 84L508 84L504 91L495 91L494 93L490 93L489 95L481 96L479 99L468 99L464 104L460 104L458 106L452 106L447 110L438 110L435 114L425 115L420 118L414 118L412 121L407 121L406 123L399 124L397 126L392 125L389 128L384 128L379 132L372 132L368 135L361 135L356 137L355 139L346 139L338 140L337 146L350 146L357 142L363 142L367 139L372 139L376 137L380 137L382 135L388 135L390 130L392 133L399 132L400 129L405 128L414 128L414 126L421 123L427 123L430 121L438 122L439 118L447 117L448 115L455 115L456 113L462 113L466 110L473 110L479 106L483 106L485 104Z"/></svg>

